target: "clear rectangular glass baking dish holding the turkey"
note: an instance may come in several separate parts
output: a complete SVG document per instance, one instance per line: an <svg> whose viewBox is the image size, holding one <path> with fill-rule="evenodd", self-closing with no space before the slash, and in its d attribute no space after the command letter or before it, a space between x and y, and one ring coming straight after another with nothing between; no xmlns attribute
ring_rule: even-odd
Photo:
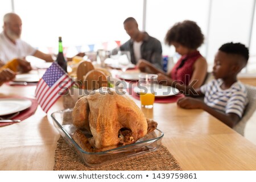
<svg viewBox="0 0 256 182"><path fill-rule="evenodd" d="M72 111L73 109L56 111L51 114L51 117L55 127L59 130L60 135L65 139L69 146L75 149L82 161L89 167L97 167L105 163L109 164L116 162L117 160L130 158L131 156L155 151L160 146L164 135L162 131L156 129L137 140L136 143L127 146L121 146L101 152L86 152L82 150L72 138L74 131L77 130L72 124Z"/></svg>

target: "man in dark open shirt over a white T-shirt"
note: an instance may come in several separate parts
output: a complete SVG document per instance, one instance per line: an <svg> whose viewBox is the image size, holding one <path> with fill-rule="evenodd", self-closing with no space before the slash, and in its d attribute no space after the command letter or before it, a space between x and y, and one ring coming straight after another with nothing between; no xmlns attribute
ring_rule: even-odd
<svg viewBox="0 0 256 182"><path fill-rule="evenodd" d="M140 59L147 60L156 68L162 69L162 45L160 41L147 32L139 31L138 23L133 17L127 18L123 26L130 36L126 43L120 46L121 51L130 51L131 63L137 64Z"/></svg>

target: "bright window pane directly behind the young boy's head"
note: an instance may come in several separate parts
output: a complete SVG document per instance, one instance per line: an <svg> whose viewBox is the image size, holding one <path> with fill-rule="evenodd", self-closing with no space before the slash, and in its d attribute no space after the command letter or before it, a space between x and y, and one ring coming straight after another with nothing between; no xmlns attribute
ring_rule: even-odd
<svg viewBox="0 0 256 182"><path fill-rule="evenodd" d="M253 2L243 0L214 0L210 16L207 61L212 64L218 48L227 42L249 46Z"/></svg>

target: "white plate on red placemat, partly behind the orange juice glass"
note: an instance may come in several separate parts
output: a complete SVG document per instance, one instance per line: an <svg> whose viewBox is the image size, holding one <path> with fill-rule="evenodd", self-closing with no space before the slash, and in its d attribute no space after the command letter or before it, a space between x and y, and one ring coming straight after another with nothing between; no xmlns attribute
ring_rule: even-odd
<svg viewBox="0 0 256 182"><path fill-rule="evenodd" d="M145 88L145 89L150 90L150 88ZM142 89L142 90L144 91L145 89ZM155 92L155 97L169 97L179 93L178 89L173 88L171 86L166 86L166 85L154 84L154 88L152 89ZM134 86L133 91L136 93L140 93L141 89L138 88L138 86Z"/></svg>

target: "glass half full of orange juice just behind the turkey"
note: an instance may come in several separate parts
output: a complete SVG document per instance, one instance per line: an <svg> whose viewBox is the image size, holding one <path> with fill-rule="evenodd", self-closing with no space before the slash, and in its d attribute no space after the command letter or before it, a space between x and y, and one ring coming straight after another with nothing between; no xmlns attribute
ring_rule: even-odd
<svg viewBox="0 0 256 182"><path fill-rule="evenodd" d="M151 109L155 102L154 84L158 75L142 73L139 75L138 86L141 88L140 100L141 106Z"/></svg>

